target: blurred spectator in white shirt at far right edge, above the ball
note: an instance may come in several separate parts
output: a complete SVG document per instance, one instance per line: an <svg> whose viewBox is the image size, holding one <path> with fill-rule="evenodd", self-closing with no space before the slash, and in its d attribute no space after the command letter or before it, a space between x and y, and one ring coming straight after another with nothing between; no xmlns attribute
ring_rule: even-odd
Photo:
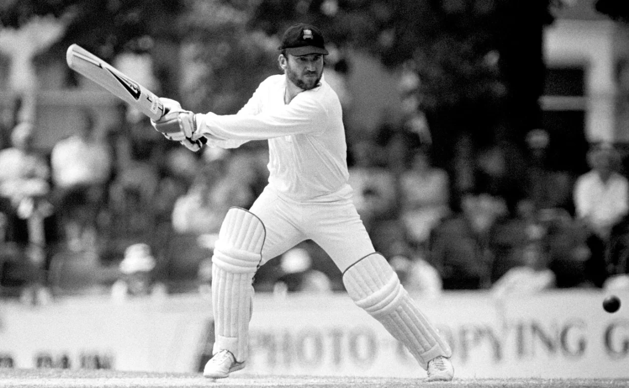
<svg viewBox="0 0 629 388"><path fill-rule="evenodd" d="M590 232L588 268L594 285L602 287L608 276L611 231L629 212L629 181L619 172L619 152L609 144L592 147L587 161L591 170L574 185L575 216Z"/></svg>

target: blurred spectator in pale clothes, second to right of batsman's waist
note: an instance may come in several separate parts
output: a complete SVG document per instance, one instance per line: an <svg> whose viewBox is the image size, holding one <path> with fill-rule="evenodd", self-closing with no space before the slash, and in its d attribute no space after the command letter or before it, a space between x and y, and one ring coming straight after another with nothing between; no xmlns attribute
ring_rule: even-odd
<svg viewBox="0 0 629 388"><path fill-rule="evenodd" d="M400 217L413 244L425 244L432 228L450 211L448 185L447 173L431 165L426 149L418 149L411 168L400 176Z"/></svg>

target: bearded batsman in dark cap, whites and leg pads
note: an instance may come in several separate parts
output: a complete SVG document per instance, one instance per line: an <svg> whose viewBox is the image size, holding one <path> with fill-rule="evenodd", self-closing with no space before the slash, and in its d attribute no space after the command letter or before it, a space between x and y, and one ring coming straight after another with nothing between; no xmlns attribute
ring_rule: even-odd
<svg viewBox="0 0 629 388"><path fill-rule="evenodd" d="M450 346L422 314L374 246L352 202L347 144L337 94L323 79L328 54L321 31L299 23L279 47L283 74L270 76L235 115L192 113L160 99L167 114L153 126L198 151L269 142L269 183L249 210L232 207L212 257L213 357L205 377L220 379L245 367L253 275L268 260L306 239L342 271L348 295L406 345L430 381L454 375ZM190 141L192 140L192 141Z"/></svg>

